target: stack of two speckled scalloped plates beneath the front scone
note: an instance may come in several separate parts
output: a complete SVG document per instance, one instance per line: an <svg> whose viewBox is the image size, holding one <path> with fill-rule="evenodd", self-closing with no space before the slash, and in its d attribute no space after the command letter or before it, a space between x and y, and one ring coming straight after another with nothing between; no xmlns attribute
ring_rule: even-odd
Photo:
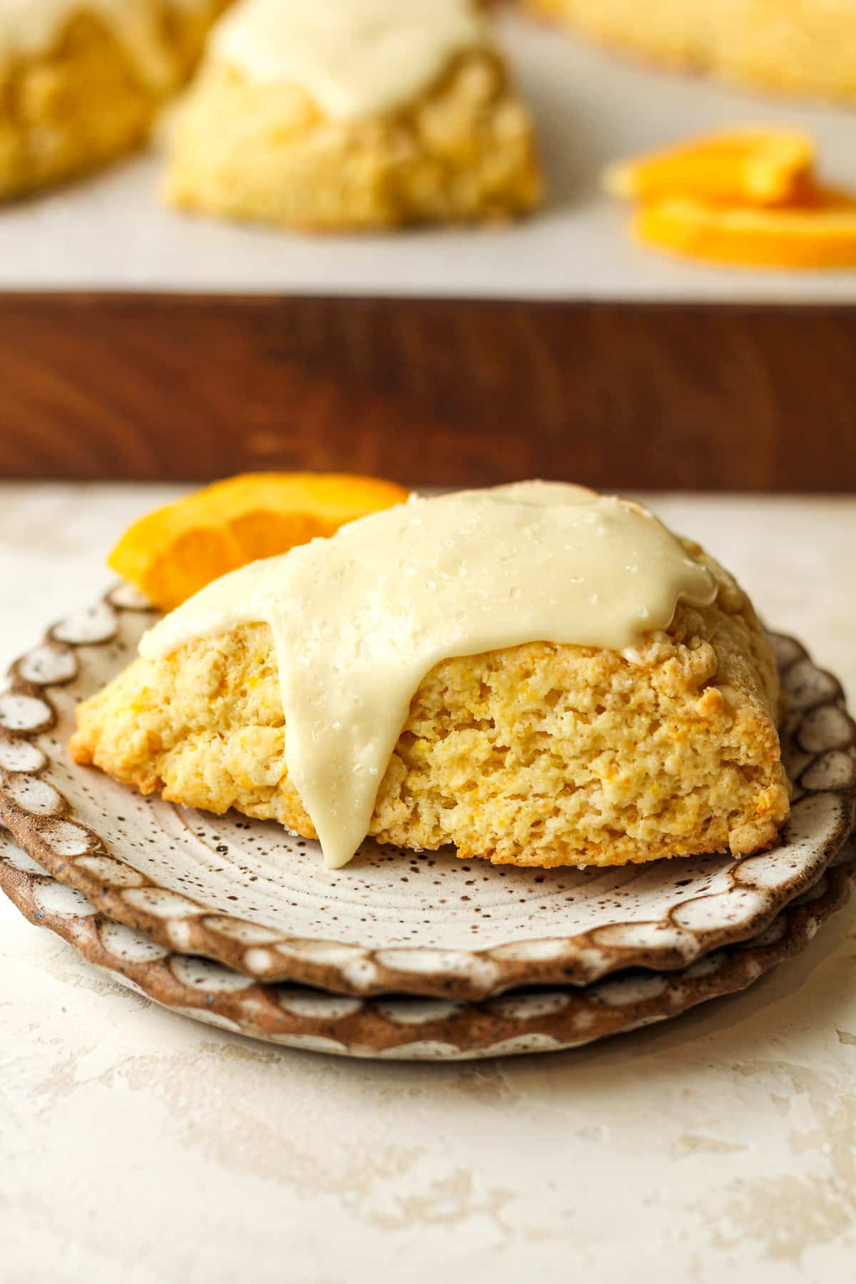
<svg viewBox="0 0 856 1284"><path fill-rule="evenodd" d="M794 785L780 845L524 871L367 842L345 869L278 826L141 799L65 754L73 710L151 624L118 588L51 628L0 695L0 887L33 923L189 1017L398 1058L576 1046L749 985L856 877L856 728L839 683L774 637Z"/></svg>

